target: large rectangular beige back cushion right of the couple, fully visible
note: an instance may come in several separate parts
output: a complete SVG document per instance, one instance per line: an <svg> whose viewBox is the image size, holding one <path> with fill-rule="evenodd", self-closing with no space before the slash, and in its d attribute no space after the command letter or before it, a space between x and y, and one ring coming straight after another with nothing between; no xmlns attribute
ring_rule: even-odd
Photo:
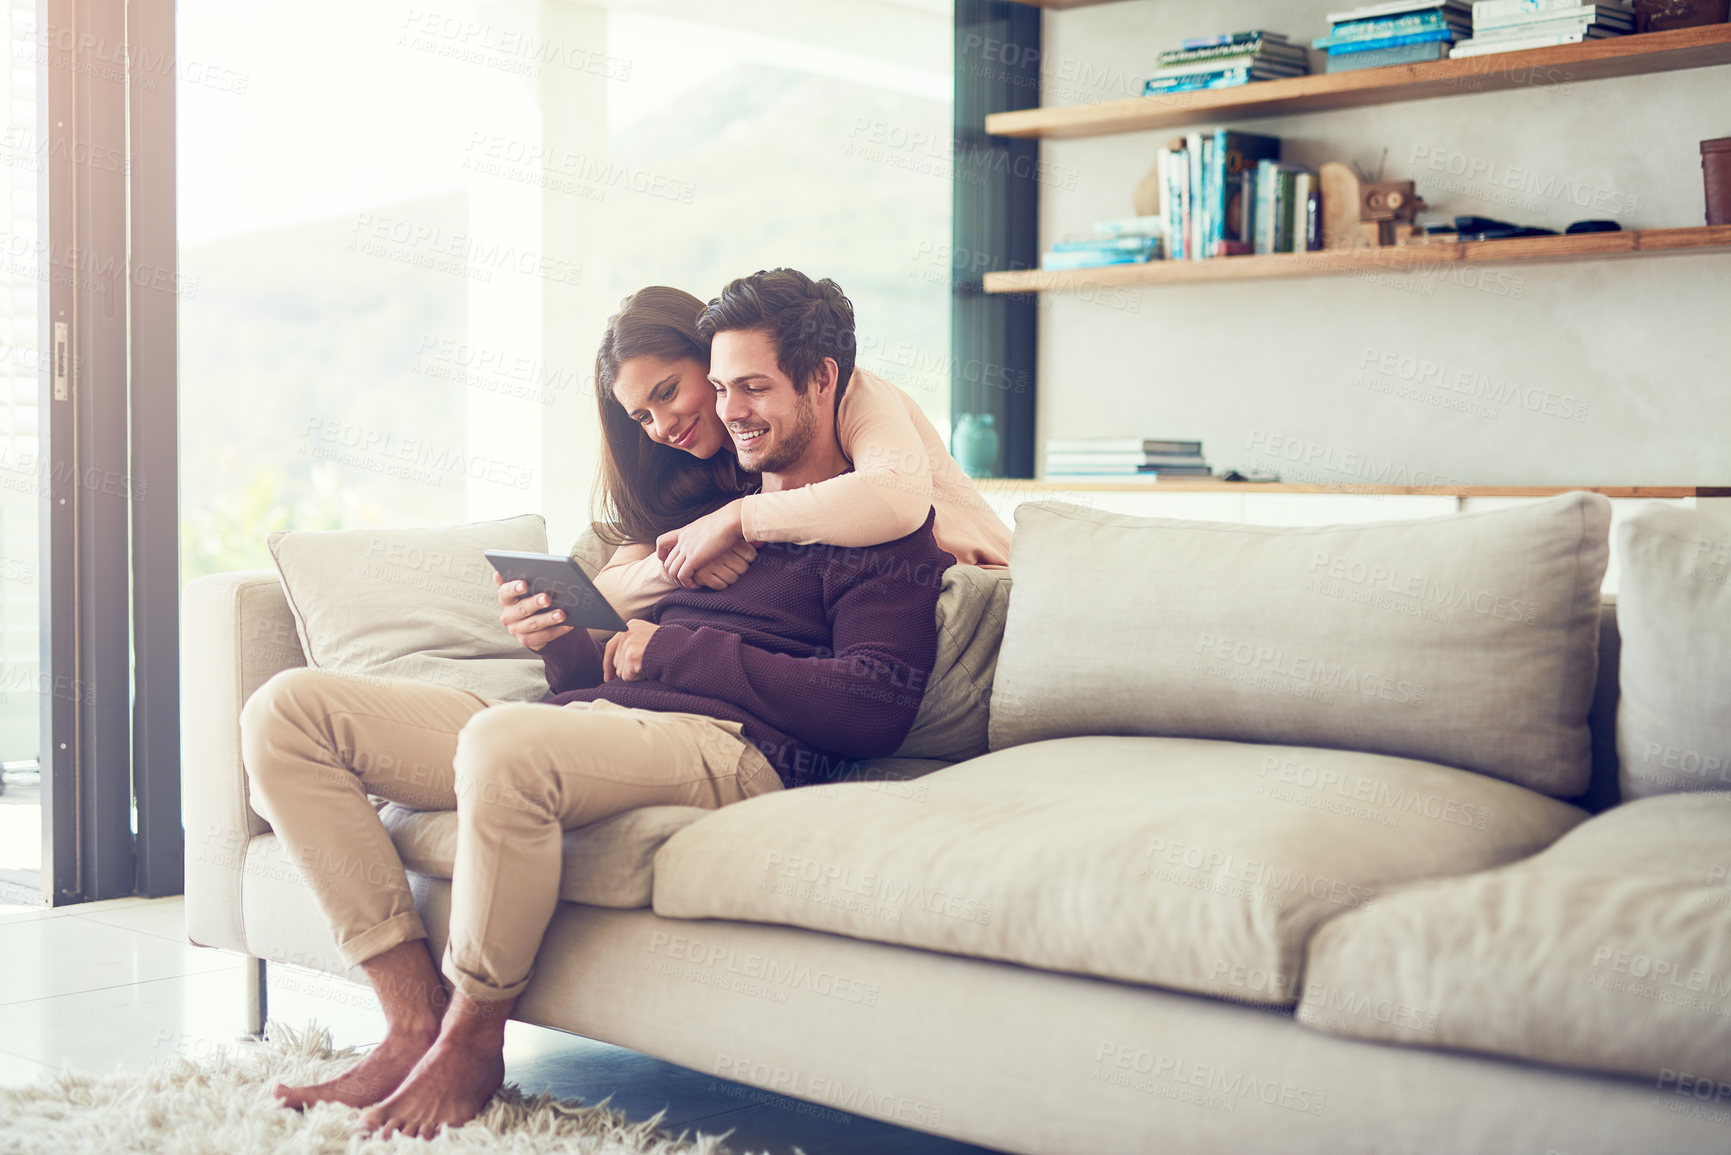
<svg viewBox="0 0 1731 1155"><path fill-rule="evenodd" d="M1016 511L992 748L1340 746L1587 788L1610 502L1277 528Z"/></svg>

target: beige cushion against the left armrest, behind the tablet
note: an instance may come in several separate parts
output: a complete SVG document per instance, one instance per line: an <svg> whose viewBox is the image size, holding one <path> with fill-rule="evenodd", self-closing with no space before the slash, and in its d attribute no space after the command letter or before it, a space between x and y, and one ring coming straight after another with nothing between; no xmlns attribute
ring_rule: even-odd
<svg viewBox="0 0 1731 1155"><path fill-rule="evenodd" d="M547 696L542 661L499 623L485 549L547 552L540 514L417 530L272 533L306 663L504 701Z"/></svg>

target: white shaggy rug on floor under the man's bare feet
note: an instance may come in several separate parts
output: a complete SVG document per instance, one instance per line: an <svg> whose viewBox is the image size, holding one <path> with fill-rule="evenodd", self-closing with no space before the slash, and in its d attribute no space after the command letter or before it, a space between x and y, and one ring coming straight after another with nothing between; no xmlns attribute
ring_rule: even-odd
<svg viewBox="0 0 1731 1155"><path fill-rule="evenodd" d="M360 1051L332 1051L320 1027L272 1023L270 1034L199 1063L177 1056L144 1072L62 1072L0 1087L0 1155L729 1155L722 1136L687 1141L661 1131L661 1115L632 1124L606 1103L524 1098L511 1084L478 1119L434 1139L367 1138L358 1108L293 1112L270 1093L279 1082L334 1079Z"/></svg>

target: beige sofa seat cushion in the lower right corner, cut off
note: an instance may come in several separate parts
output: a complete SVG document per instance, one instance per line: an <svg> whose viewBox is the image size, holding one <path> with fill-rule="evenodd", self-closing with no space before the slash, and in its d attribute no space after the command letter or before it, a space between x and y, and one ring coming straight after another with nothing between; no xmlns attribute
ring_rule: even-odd
<svg viewBox="0 0 1731 1155"><path fill-rule="evenodd" d="M1731 1087L1731 793L1631 802L1549 850L1322 926L1298 1018Z"/></svg>

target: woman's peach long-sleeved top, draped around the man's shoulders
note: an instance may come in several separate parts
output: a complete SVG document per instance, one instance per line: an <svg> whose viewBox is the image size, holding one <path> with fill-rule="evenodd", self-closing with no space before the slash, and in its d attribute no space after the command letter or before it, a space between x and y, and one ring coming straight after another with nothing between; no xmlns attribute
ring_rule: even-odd
<svg viewBox="0 0 1731 1155"><path fill-rule="evenodd" d="M912 397L855 369L836 414L836 440L852 473L777 494L751 494L739 521L750 542L881 545L907 537L936 511L933 535L959 563L1009 565L1009 526L950 457ZM679 589L654 542L628 542L595 575L595 587L627 618L642 618Z"/></svg>

